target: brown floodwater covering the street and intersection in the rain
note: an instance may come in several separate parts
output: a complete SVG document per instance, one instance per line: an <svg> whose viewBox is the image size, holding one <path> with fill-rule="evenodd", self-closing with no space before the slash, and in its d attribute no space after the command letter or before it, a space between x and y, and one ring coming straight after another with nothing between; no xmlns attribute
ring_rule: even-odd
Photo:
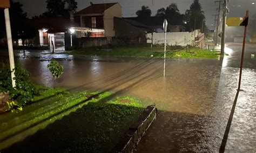
<svg viewBox="0 0 256 153"><path fill-rule="evenodd" d="M239 92L226 141L228 152L256 152L256 45L246 48ZM227 44L224 59L99 58L16 52L16 62L32 80L47 86L112 91L156 104L157 119L140 140L137 152L219 151L237 93L241 44ZM44 51L46 53L48 51ZM6 59L1 53L0 60ZM50 60L64 66L53 81Z"/></svg>

